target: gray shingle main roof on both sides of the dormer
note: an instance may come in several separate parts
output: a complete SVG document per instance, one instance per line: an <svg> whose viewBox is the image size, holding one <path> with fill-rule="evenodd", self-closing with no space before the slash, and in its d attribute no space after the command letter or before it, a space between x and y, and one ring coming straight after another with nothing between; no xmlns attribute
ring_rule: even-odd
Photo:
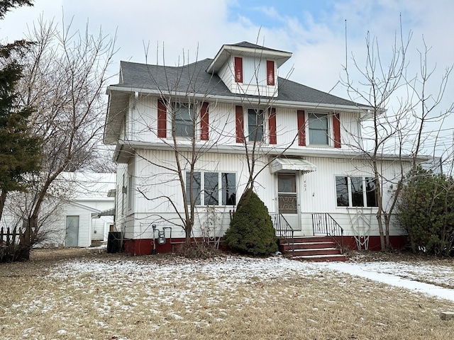
<svg viewBox="0 0 454 340"><path fill-rule="evenodd" d="M243 44L245 42L240 42ZM237 44L238 45L238 44ZM250 47L250 43L247 43ZM259 46L260 47L260 46ZM261 47L262 48L262 47ZM112 87L131 87L154 91L177 91L188 94L209 96L238 96L231 93L217 74L209 74L206 69L213 60L205 59L183 67L121 62L123 82ZM312 89L288 79L278 78L279 95L277 101L358 106L353 101ZM254 98L254 96L250 96Z"/></svg>

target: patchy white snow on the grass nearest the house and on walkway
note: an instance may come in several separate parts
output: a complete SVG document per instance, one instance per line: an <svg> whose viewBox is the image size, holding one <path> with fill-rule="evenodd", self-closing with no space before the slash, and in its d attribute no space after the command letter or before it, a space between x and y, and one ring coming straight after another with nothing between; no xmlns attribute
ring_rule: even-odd
<svg viewBox="0 0 454 340"><path fill-rule="evenodd" d="M452 268L425 266L424 263L316 263L293 261L281 256L272 256L267 259L227 256L209 261L175 258L164 263L127 259L94 259L67 261L58 266L50 276L65 280L72 277L74 271L81 274L89 273L99 281L118 280L118 289L140 284L159 285L158 296L150 293L150 297L157 297L160 303L164 302L168 305L173 305L175 300L194 300L198 295L204 294L208 287L212 294L209 299L216 299L216 291L236 290L237 285L242 283L260 284L260 282L275 278L292 280L296 277L311 276L312 280L323 281L326 280L327 275L334 275L339 283L345 283L345 279L339 273L347 273L353 278L367 278L454 301L454 290L440 286L452 285L454 287ZM205 287L198 286L194 274L204 277ZM121 279L118 279L119 276ZM424 280L425 283L418 280ZM178 296L175 296L175 292L170 293L168 288L182 281L187 282L187 288L179 290ZM73 285L74 289L85 289L81 283L74 282ZM128 290L128 292L128 295L134 293L133 290ZM105 295L104 298L106 305L97 307L109 310L111 305L115 305L116 302L112 302L109 295ZM135 297L131 296L131 298L132 302ZM125 305L120 307L128 309Z"/></svg>

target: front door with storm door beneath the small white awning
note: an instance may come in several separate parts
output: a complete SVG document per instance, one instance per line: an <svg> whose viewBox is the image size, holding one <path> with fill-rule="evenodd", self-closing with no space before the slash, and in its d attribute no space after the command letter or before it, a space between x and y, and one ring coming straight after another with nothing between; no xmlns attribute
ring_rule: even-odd
<svg viewBox="0 0 454 340"><path fill-rule="evenodd" d="M299 226L296 174L277 174L277 200L279 202L279 214L285 217L290 227L297 230L301 229Z"/></svg>

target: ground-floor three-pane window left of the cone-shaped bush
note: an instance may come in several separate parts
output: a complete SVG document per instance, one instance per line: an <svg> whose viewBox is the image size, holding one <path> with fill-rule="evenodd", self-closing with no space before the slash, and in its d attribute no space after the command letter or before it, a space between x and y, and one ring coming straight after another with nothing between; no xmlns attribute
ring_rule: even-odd
<svg viewBox="0 0 454 340"><path fill-rule="evenodd" d="M189 203L191 175L186 173ZM236 205L236 175L228 172L195 171L192 176L192 199L195 205Z"/></svg>

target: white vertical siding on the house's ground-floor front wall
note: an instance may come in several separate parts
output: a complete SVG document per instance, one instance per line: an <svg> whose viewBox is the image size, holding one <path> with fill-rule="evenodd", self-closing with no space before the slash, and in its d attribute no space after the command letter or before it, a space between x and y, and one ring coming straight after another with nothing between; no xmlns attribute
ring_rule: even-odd
<svg viewBox="0 0 454 340"><path fill-rule="evenodd" d="M189 154L182 154L182 159ZM156 150L138 150L135 162L135 180L138 191L135 194L134 215L129 215L126 222L126 237L151 238L151 225L158 227L172 227L173 237L182 237L181 220L175 208L183 212L182 188L175 170L174 154ZM316 165L317 170L303 174L297 172L299 207L301 213L301 235L312 234L311 214L314 212L328 212L345 229L345 235L358 233L358 229L367 226L372 235L377 235L377 208L341 208L336 205L336 175L337 176L371 176L369 164L354 159L332 159L321 157L306 157L306 160ZM258 162L256 169L262 169L267 158ZM181 162L182 169L189 169ZM384 175L391 179L398 164L384 162ZM167 169L165 169L167 168ZM243 193L248 179L248 170L244 156L241 154L203 154L196 164L196 171L216 171L236 173L237 202ZM385 199L389 199L391 183L384 183ZM271 174L269 169L261 171L255 182L255 191L264 201L270 212L277 212L277 174ZM169 203L172 200L173 205ZM206 207L199 207L199 214L194 225L194 234L201 236L209 225L207 222L210 213ZM230 217L228 210L231 207L216 207L216 233L223 234L228 228ZM358 212L362 217L358 219ZM211 218L211 220L213 220ZM295 228L297 229L297 227ZM211 232L214 230L211 229ZM399 230L392 229L392 234L399 234ZM177 236L179 235L179 236Z"/></svg>

